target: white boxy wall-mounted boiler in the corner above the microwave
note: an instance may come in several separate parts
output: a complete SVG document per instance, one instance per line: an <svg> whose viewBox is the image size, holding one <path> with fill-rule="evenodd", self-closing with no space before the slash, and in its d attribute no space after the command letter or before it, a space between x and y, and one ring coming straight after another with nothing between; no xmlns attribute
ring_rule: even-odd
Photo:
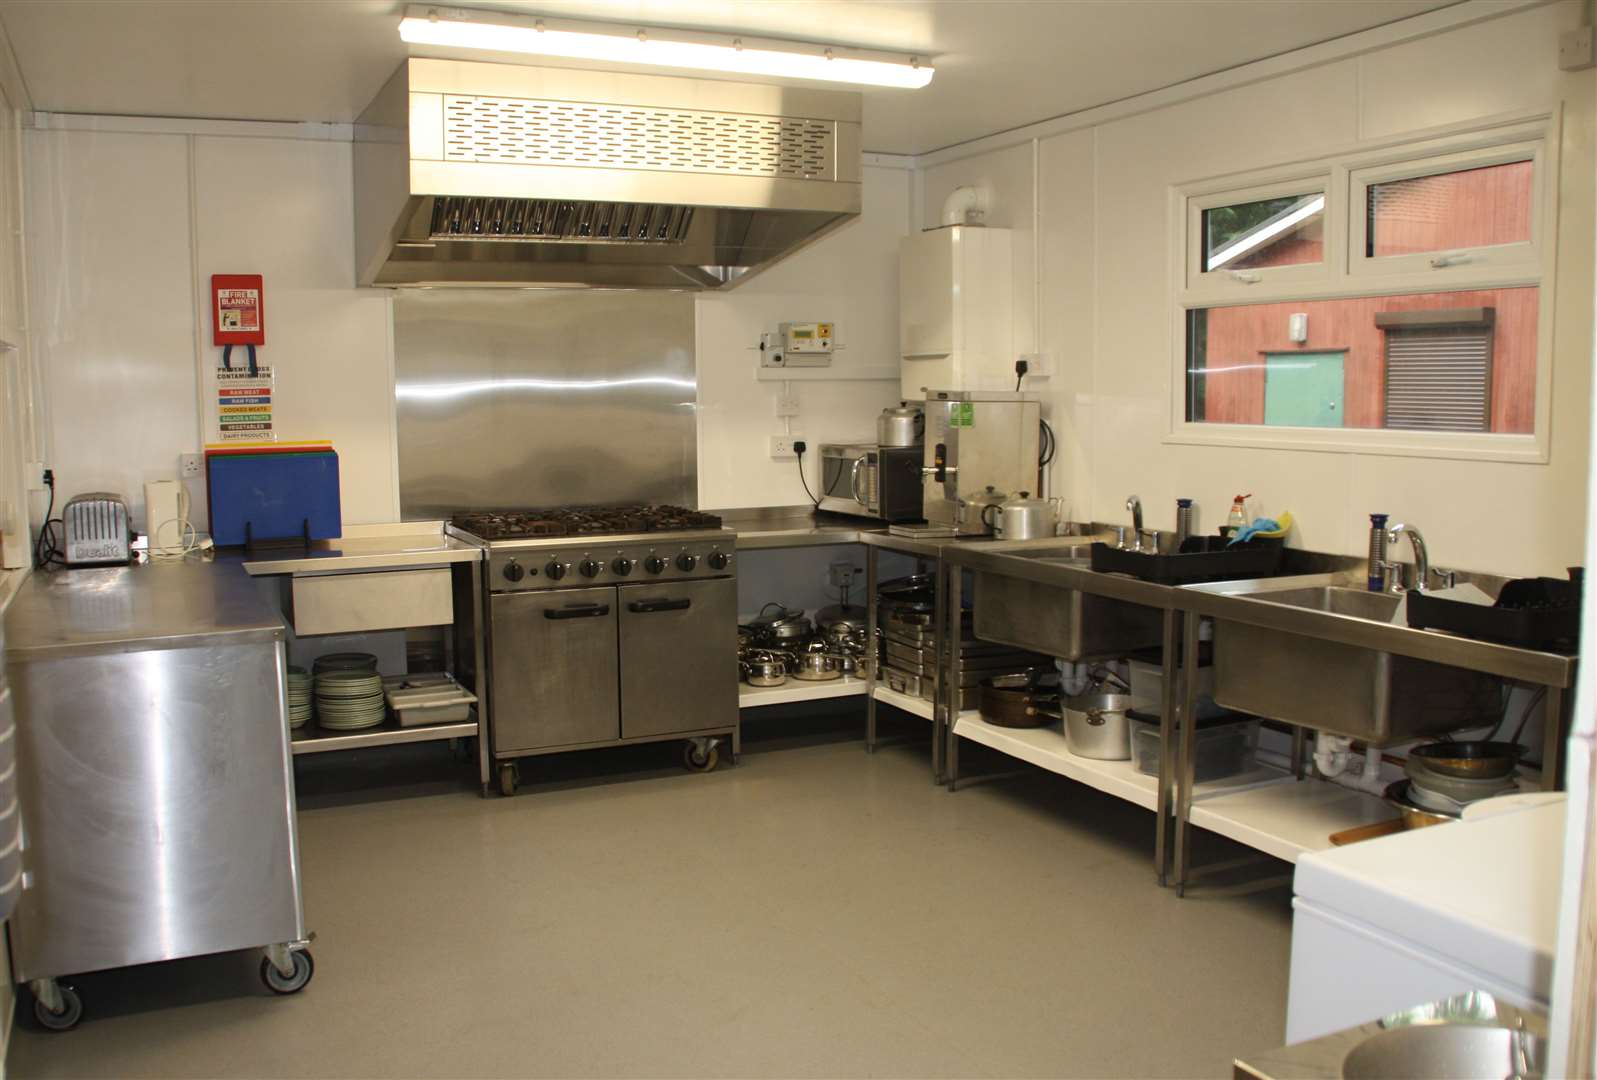
<svg viewBox="0 0 1597 1080"><path fill-rule="evenodd" d="M899 391L1014 388L1008 228L949 225L899 243Z"/></svg>

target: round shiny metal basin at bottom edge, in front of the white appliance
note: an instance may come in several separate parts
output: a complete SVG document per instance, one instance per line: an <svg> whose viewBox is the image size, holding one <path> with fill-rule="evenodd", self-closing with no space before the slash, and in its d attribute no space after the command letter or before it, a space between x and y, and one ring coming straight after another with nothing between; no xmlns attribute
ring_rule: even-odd
<svg viewBox="0 0 1597 1080"><path fill-rule="evenodd" d="M1547 1045L1527 1030L1474 1024L1417 1024L1370 1035L1348 1051L1349 1080L1474 1080L1541 1077Z"/></svg>

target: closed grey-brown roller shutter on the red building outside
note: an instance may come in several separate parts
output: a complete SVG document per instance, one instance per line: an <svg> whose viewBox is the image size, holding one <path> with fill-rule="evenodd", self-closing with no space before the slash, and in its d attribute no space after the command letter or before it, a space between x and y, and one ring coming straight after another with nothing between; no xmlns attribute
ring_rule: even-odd
<svg viewBox="0 0 1597 1080"><path fill-rule="evenodd" d="M1492 430L1492 318L1490 308L1476 312L1485 316L1471 312L1474 318L1452 324L1436 318L1452 312L1389 313L1431 316L1429 324L1377 318L1377 324L1386 323L1388 428Z"/></svg>

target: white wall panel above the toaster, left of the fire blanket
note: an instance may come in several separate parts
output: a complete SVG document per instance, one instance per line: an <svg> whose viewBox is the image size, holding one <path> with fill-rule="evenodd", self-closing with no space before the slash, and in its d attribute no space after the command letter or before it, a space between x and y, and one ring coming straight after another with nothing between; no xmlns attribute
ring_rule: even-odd
<svg viewBox="0 0 1597 1080"><path fill-rule="evenodd" d="M29 131L26 157L56 513L113 490L142 526L144 482L200 443L187 139Z"/></svg>

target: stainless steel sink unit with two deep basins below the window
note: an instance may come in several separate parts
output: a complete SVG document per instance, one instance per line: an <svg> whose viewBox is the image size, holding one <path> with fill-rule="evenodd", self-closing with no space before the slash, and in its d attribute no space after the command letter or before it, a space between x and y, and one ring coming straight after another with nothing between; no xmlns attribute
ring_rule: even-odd
<svg viewBox="0 0 1597 1080"><path fill-rule="evenodd" d="M955 556L974 572L976 636L1081 661L1159 645L1164 610L1207 615L1220 705L1377 744L1492 722L1503 677L1552 684L1568 663L1412 629L1401 594L1356 585L1359 559L1171 586L1092 570L1089 554L1068 542Z"/></svg>

